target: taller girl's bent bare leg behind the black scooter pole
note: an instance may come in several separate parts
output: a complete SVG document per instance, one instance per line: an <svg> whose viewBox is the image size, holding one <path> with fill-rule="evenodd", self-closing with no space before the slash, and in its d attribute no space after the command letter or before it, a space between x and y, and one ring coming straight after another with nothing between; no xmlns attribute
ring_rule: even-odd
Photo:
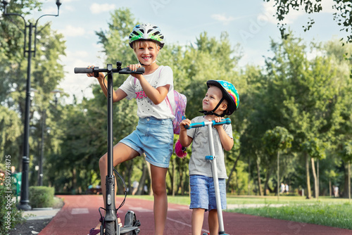
<svg viewBox="0 0 352 235"><path fill-rule="evenodd" d="M130 148L125 144L118 143L115 146L113 146L113 166L115 167L116 165L123 163L126 160L135 158L137 155L139 155L137 151L134 151L132 148ZM103 201L105 206L105 195L106 195L105 180L106 180L106 174L108 174L108 153L105 153L100 158L99 170L100 170L100 178L101 178L101 192L103 193ZM116 185L116 179L115 179L115 185ZM99 224L96 225L95 229L99 229L100 225L101 223L99 222Z"/></svg>

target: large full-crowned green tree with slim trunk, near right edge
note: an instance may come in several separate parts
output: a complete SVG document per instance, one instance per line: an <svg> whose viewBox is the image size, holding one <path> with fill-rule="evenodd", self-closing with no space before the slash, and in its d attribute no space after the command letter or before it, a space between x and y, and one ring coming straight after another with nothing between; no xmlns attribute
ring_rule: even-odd
<svg viewBox="0 0 352 235"><path fill-rule="evenodd" d="M345 80L339 75L339 65L320 44L308 48L290 35L282 43L272 43L272 51L275 56L266 60L268 94L275 96L271 105L277 107L277 121L294 136L293 150L304 156L302 144L306 141L331 142L336 138L334 132L341 125L339 87ZM308 59L306 51L315 51L317 56ZM309 188L308 155L306 182Z"/></svg>

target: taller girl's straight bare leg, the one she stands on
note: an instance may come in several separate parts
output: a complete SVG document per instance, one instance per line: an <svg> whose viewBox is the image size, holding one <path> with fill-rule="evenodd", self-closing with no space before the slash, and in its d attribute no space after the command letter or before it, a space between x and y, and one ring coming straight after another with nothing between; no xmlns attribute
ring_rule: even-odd
<svg viewBox="0 0 352 235"><path fill-rule="evenodd" d="M168 196L166 194L167 168L151 165L151 186L154 193L155 235L163 235L166 215L168 213Z"/></svg>

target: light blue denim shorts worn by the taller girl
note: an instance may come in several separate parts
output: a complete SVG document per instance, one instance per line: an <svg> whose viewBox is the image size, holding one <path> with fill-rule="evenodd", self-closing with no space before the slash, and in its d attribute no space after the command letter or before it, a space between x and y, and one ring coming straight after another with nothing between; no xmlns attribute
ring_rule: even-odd
<svg viewBox="0 0 352 235"><path fill-rule="evenodd" d="M120 142L137 151L146 153L146 161L156 167L169 167L173 151L171 119L153 117L139 118L137 128Z"/></svg>

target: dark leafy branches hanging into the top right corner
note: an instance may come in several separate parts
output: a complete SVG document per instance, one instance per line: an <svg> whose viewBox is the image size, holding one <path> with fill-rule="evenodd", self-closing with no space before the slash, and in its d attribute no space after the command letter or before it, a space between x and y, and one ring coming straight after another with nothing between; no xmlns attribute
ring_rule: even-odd
<svg viewBox="0 0 352 235"><path fill-rule="evenodd" d="M264 0L269 2L270 0ZM322 1L320 0L301 0L301 1L296 1L296 0L274 0L276 7L276 18L279 20L279 22L282 22L284 18L289 14L291 11L299 11L299 10L304 10L308 14L312 13L319 13L322 11ZM345 32L350 32L352 33L352 3L351 1L345 1L345 0L334 0L334 5L332 8L335 8L338 13L334 13L334 20L337 22L337 25L341 27L341 31ZM309 30L310 27L313 26L314 20L309 18L309 21L307 23L307 26L304 27L304 31ZM279 25L279 24L278 24ZM280 24L279 25L279 30L281 32L282 38L287 37L286 31L286 24ZM351 43L352 42L352 36L348 35L346 42Z"/></svg>

